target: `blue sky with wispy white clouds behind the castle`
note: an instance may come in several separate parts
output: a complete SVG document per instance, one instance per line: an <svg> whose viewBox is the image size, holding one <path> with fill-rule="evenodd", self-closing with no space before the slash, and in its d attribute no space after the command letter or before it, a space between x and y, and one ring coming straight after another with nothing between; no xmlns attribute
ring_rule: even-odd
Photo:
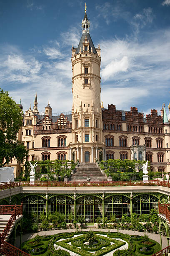
<svg viewBox="0 0 170 256"><path fill-rule="evenodd" d="M86 0L90 36L101 48L107 108L150 113L170 102L170 0ZM0 0L0 87L24 110L48 100L72 107L71 47L80 40L84 1ZM168 111L169 114L169 111Z"/></svg>

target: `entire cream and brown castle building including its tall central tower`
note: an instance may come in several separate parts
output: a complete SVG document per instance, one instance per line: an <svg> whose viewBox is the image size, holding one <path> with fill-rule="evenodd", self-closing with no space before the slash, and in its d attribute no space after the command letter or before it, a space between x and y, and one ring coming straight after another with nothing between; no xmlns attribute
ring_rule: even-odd
<svg viewBox="0 0 170 256"><path fill-rule="evenodd" d="M33 109L30 107L23 115L18 139L29 149L26 160L148 159L151 171L170 172L170 123L165 105L161 115L153 109L146 117L135 107L130 111L116 110L113 104L103 108L100 45L94 46L89 28L85 9L80 42L71 49L71 113L53 114L49 102L45 112L39 113L35 95ZM13 159L10 166L15 167L18 177L24 163Z"/></svg>

